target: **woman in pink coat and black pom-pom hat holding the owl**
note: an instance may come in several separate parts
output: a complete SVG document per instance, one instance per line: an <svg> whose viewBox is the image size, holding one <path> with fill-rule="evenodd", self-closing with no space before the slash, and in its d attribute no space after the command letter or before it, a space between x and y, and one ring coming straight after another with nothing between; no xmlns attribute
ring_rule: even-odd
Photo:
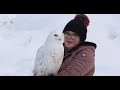
<svg viewBox="0 0 120 90"><path fill-rule="evenodd" d="M94 76L97 45L86 41L89 23L85 14L77 14L65 26L64 59L55 76Z"/></svg>

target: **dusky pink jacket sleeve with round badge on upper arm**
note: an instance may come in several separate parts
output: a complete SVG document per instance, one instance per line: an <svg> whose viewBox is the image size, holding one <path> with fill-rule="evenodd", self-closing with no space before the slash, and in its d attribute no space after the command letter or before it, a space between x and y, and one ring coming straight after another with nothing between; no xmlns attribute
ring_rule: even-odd
<svg viewBox="0 0 120 90"><path fill-rule="evenodd" d="M84 49L76 54L73 61L56 76L84 76L94 67L94 51Z"/></svg>

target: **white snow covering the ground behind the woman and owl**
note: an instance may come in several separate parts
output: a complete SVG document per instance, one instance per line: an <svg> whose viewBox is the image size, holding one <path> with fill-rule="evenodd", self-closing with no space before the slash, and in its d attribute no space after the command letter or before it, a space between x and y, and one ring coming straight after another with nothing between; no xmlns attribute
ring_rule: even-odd
<svg viewBox="0 0 120 90"><path fill-rule="evenodd" d="M37 49L49 32L62 31L74 15L0 14L0 76L32 76ZM87 15L87 41L97 44L94 76L119 76L120 15Z"/></svg>

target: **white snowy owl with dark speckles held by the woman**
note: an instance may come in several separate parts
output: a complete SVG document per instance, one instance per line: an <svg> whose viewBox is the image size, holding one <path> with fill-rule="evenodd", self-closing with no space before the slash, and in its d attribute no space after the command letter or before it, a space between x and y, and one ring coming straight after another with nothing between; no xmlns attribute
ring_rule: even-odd
<svg viewBox="0 0 120 90"><path fill-rule="evenodd" d="M50 76L57 74L64 56L62 32L51 32L41 46L35 58L34 76Z"/></svg>

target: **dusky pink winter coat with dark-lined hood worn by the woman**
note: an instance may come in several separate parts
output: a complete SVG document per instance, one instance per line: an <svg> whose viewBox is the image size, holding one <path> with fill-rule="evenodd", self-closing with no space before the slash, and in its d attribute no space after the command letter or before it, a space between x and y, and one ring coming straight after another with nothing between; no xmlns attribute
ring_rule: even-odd
<svg viewBox="0 0 120 90"><path fill-rule="evenodd" d="M84 42L64 55L56 76L93 76L95 72L95 49L97 45Z"/></svg>

